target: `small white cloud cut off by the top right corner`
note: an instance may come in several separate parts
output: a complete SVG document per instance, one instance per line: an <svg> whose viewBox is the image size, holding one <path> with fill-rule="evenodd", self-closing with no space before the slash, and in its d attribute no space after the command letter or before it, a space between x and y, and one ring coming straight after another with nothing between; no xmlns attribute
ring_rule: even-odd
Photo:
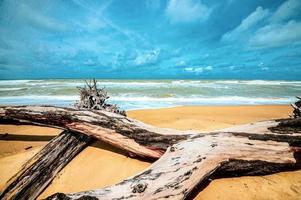
<svg viewBox="0 0 301 200"><path fill-rule="evenodd" d="M271 17L271 21L279 22L294 17L301 12L300 0L288 0L284 2Z"/></svg>

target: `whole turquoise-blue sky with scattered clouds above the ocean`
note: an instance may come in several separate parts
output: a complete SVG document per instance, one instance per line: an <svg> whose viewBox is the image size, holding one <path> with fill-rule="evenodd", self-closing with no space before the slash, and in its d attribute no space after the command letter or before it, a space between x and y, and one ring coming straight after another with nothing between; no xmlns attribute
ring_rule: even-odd
<svg viewBox="0 0 301 200"><path fill-rule="evenodd" d="M0 0L0 79L301 80L301 0Z"/></svg>

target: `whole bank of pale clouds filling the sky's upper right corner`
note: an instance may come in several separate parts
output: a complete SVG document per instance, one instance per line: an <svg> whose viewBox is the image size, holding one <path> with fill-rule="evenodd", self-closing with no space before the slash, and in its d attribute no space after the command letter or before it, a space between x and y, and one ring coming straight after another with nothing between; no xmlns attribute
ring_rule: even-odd
<svg viewBox="0 0 301 200"><path fill-rule="evenodd" d="M257 7L234 30L223 35L222 42L237 42L248 48L273 48L300 43L301 22L288 20L299 14L300 0L288 0L274 13Z"/></svg>

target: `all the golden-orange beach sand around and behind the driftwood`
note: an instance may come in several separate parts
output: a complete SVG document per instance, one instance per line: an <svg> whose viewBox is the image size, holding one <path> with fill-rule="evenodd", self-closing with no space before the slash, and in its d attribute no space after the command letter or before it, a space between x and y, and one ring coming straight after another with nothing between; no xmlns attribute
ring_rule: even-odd
<svg viewBox="0 0 301 200"><path fill-rule="evenodd" d="M158 127L209 131L287 117L290 112L290 107L284 105L185 106L130 111L128 115ZM46 144L47 141L39 141L45 138L37 136L53 136L60 132L61 130L45 127L0 125L1 134L16 135L15 138L11 136L13 140L0 141L0 190L22 164ZM24 138L28 141L19 141ZM55 192L70 193L108 186L133 176L149 165L148 162L129 158L122 151L97 142L74 158L39 199ZM301 170L213 180L196 199L301 199Z"/></svg>

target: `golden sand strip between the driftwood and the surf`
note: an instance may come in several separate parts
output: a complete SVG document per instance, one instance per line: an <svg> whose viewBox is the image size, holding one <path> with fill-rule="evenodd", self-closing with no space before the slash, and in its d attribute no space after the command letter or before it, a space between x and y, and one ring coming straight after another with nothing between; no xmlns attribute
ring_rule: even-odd
<svg viewBox="0 0 301 200"><path fill-rule="evenodd" d="M136 110L129 117L158 127L179 130L211 131L238 124L287 117L289 106L182 106L153 110Z"/></svg>

